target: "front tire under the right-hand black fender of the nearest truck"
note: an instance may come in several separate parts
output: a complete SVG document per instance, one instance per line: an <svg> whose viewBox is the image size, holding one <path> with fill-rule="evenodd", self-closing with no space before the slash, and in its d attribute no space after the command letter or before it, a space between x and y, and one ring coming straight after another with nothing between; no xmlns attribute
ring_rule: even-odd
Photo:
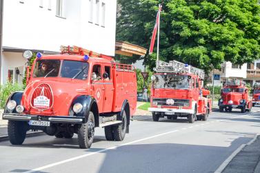
<svg viewBox="0 0 260 173"><path fill-rule="evenodd" d="M94 139L94 114L90 112L88 122L79 125L78 141L80 148L90 148Z"/></svg>

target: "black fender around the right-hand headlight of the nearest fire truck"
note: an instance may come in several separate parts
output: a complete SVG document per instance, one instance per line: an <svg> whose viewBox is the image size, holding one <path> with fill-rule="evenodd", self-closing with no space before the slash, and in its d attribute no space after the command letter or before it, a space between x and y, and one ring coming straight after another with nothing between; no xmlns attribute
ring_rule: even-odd
<svg viewBox="0 0 260 173"><path fill-rule="evenodd" d="M77 114L72 111L72 108L73 108L74 104L76 104L76 103L81 103L81 105L83 105L83 109L81 110L81 112L79 112ZM88 115L90 114L90 111L92 111L94 114L95 126L96 127L99 126L99 108L97 107L96 99L94 99L92 96L81 95L81 96L77 96L76 98L74 98L74 100L72 101L72 104L71 104L71 108L70 108L70 112L71 111L74 116L85 116L86 122L88 121ZM84 123L86 123L86 122L84 122Z"/></svg>

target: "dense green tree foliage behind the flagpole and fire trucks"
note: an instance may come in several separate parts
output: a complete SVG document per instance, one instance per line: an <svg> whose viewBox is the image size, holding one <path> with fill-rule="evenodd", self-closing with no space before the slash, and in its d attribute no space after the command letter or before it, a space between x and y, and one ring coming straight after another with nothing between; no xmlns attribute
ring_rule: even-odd
<svg viewBox="0 0 260 173"><path fill-rule="evenodd" d="M149 48L158 10L160 59L175 59L208 72L223 61L259 59L260 7L257 0L119 0L117 40ZM155 51L154 51L155 52ZM135 61L134 57L132 61ZM156 54L146 56L154 67Z"/></svg>

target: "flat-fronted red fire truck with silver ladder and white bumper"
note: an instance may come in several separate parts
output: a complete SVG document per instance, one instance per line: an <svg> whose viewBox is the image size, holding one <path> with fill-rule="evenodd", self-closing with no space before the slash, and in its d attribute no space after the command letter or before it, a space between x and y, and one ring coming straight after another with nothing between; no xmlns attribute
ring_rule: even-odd
<svg viewBox="0 0 260 173"><path fill-rule="evenodd" d="M187 117L189 123L208 119L212 101L207 98L210 92L202 89L203 70L178 61L157 61L154 70L149 108L153 121L164 116Z"/></svg>

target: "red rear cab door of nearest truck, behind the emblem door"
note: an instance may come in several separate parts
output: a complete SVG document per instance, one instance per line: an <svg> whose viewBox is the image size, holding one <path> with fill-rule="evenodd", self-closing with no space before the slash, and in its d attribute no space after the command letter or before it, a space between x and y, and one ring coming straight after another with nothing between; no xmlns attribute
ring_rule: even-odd
<svg viewBox="0 0 260 173"><path fill-rule="evenodd" d="M108 75L106 79L103 79L103 86L105 88L103 112L112 112L112 103L114 99L114 85L112 81L111 65L105 64L103 66L103 72Z"/></svg>

